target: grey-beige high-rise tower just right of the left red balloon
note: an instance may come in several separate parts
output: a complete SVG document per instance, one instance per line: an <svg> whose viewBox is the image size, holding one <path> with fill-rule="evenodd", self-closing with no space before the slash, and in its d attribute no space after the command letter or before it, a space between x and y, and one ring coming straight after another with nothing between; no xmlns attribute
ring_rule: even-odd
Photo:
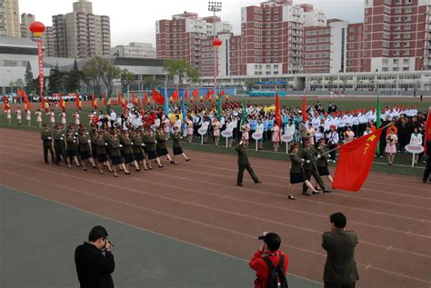
<svg viewBox="0 0 431 288"><path fill-rule="evenodd" d="M94 15L93 5L87 0L79 0L73 6L73 12L53 16L55 55L72 58L110 55L109 17Z"/></svg>

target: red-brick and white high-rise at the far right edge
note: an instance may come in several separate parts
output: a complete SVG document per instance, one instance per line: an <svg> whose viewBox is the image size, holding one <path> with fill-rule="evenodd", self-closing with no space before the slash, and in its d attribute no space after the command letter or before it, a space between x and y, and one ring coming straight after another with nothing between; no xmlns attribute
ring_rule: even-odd
<svg viewBox="0 0 431 288"><path fill-rule="evenodd" d="M431 68L431 1L365 0L364 20L365 72Z"/></svg>

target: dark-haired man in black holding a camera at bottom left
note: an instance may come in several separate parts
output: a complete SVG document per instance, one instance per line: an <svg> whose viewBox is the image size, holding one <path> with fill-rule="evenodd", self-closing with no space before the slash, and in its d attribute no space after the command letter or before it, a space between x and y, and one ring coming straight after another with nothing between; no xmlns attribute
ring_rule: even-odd
<svg viewBox="0 0 431 288"><path fill-rule="evenodd" d="M114 287L114 255L111 242L102 226L95 226L88 234L88 242L75 249L75 265L81 288Z"/></svg>

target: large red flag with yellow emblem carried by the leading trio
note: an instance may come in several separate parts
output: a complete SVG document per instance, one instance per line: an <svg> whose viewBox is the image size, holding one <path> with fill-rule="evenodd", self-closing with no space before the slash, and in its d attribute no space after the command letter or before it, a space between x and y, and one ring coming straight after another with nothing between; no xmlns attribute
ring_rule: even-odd
<svg viewBox="0 0 431 288"><path fill-rule="evenodd" d="M366 181L373 164L376 146L383 128L366 134L340 147L336 174L332 187L346 191L358 191Z"/></svg>

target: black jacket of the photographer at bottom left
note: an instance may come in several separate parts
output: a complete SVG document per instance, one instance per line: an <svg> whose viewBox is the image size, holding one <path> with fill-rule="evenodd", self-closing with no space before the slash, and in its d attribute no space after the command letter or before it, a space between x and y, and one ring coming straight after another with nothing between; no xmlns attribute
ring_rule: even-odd
<svg viewBox="0 0 431 288"><path fill-rule="evenodd" d="M105 255L90 243L79 245L75 249L75 265L81 288L113 288L114 255L109 251Z"/></svg>

